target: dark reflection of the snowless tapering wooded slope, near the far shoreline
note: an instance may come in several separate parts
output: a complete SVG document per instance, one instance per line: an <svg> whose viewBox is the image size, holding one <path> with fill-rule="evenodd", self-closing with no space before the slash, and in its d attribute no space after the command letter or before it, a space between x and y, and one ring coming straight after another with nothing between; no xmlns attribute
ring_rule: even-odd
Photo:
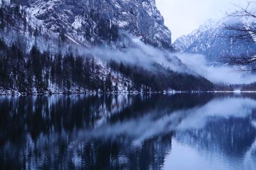
<svg viewBox="0 0 256 170"><path fill-rule="evenodd" d="M203 106L212 99L212 94L177 94L173 96L154 95L151 97L133 97L132 106L127 107L124 111L111 117L111 122L119 120L129 120L132 118L142 117L150 111L159 111L164 115L177 110L193 108L195 106ZM165 110L165 111L164 111ZM163 114L156 114L156 117L163 117Z"/></svg>

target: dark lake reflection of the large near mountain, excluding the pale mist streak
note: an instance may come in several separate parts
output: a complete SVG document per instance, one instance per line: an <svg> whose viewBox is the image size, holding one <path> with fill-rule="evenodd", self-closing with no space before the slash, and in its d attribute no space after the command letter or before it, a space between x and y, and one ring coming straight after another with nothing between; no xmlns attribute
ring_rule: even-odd
<svg viewBox="0 0 256 170"><path fill-rule="evenodd" d="M0 98L0 167L161 169L172 145L170 132L157 131L136 145L129 134L117 133L115 138L88 138L86 134L80 138L80 134L115 124L122 127L125 122L137 120L143 124L143 117L150 117L150 122L157 124L154 121L173 111L204 106L213 97L179 94Z"/></svg>

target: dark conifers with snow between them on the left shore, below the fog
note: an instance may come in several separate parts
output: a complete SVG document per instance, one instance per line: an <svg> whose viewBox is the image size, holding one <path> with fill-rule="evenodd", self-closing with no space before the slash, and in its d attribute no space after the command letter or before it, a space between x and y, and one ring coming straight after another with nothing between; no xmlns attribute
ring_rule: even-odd
<svg viewBox="0 0 256 170"><path fill-rule="evenodd" d="M72 53L42 53L35 45L26 53L16 43L8 46L0 40L0 87L4 89L32 92L35 88L44 93L51 91L51 83L63 92L70 92L74 85L88 90L111 91L111 76L105 80L99 72L93 58Z"/></svg>

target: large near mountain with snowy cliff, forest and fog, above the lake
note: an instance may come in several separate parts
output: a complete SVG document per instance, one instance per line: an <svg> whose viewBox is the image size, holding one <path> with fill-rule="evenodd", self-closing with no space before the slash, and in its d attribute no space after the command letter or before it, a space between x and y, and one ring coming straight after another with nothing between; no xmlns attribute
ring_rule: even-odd
<svg viewBox="0 0 256 170"><path fill-rule="evenodd" d="M216 87L170 53L154 0L14 2L1 1L0 94Z"/></svg>

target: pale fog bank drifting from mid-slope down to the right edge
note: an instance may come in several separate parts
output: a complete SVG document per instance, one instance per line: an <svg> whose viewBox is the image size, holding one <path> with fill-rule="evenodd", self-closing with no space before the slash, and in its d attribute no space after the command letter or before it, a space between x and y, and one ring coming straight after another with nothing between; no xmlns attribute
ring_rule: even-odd
<svg viewBox="0 0 256 170"><path fill-rule="evenodd" d="M132 46L123 49L111 48L109 46L98 46L90 50L79 50L86 55L91 54L108 62L113 59L118 62L145 67L152 71L157 71L153 63L161 64L179 73L194 74L204 76L213 83L240 84L252 83L256 81L256 76L252 73L238 71L235 66L222 64L214 66L207 62L204 55L192 53L173 53L168 50L154 48L145 45L140 39L132 38Z"/></svg>

